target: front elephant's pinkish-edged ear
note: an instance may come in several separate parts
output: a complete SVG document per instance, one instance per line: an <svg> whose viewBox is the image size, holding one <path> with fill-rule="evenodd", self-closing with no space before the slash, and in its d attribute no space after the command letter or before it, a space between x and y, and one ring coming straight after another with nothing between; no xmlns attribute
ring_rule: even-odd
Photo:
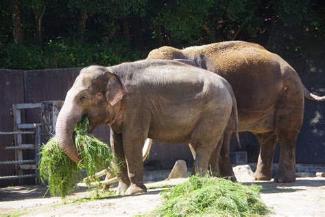
<svg viewBox="0 0 325 217"><path fill-rule="evenodd" d="M112 73L110 71L106 72L106 76L108 77L108 82L106 86L106 101L114 106L122 100L123 96L128 93L128 89L125 87L125 83L123 82L121 76L117 73Z"/></svg>

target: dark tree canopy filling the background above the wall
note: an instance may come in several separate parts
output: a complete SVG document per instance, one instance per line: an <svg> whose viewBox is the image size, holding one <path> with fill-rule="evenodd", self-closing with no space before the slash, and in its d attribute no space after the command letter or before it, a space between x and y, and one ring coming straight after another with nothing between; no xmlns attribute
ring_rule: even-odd
<svg viewBox="0 0 325 217"><path fill-rule="evenodd" d="M113 65L156 47L259 43L306 60L324 46L325 2L316 0L1 0L0 68Z"/></svg>

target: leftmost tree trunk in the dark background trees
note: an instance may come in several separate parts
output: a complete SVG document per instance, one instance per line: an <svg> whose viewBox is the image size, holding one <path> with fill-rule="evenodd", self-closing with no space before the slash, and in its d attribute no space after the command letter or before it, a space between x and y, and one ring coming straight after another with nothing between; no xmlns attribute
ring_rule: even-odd
<svg viewBox="0 0 325 217"><path fill-rule="evenodd" d="M14 1L14 6L12 8L12 31L14 34L14 43L23 43L23 28L21 25L21 12L19 1Z"/></svg>

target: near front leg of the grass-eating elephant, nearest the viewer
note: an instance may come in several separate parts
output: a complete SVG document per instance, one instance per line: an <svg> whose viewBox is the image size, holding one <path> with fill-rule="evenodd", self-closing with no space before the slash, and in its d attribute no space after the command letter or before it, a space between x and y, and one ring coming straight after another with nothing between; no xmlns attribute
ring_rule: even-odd
<svg viewBox="0 0 325 217"><path fill-rule="evenodd" d="M142 148L144 141L145 137L134 136L131 133L123 134L123 148L130 179L130 186L126 190L127 195L147 192L147 188L143 185Z"/></svg>

